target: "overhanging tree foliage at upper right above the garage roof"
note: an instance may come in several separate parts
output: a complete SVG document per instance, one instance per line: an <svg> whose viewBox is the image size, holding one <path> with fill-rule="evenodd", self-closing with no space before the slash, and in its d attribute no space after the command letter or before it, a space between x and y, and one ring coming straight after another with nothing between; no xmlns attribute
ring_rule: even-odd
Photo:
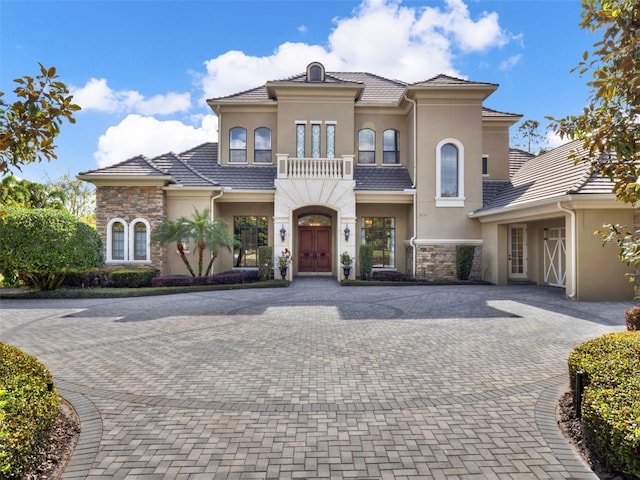
<svg viewBox="0 0 640 480"><path fill-rule="evenodd" d="M582 140L595 172L615 184L619 200L640 195L640 4L637 0L583 0L580 26L602 31L592 54L573 71L591 72L590 103L582 114L554 121L561 137Z"/></svg>

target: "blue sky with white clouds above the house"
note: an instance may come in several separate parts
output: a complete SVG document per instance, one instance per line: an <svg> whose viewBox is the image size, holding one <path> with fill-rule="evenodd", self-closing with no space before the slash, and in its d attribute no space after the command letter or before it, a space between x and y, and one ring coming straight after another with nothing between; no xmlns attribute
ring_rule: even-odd
<svg viewBox="0 0 640 480"><path fill-rule="evenodd" d="M204 99L316 60L407 82L498 83L485 106L546 126L588 99L588 78L570 70L598 37L580 29L580 12L579 0L0 0L5 100L41 62L82 107L58 159L16 174L46 181L216 141Z"/></svg>

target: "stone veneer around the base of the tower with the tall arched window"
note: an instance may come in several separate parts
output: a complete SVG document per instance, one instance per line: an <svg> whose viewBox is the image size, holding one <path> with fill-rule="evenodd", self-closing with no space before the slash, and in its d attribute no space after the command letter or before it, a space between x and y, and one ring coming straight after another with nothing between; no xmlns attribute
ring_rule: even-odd
<svg viewBox="0 0 640 480"><path fill-rule="evenodd" d="M419 245L416 248L416 280L456 281L456 245ZM482 280L482 247L473 254L470 280Z"/></svg>

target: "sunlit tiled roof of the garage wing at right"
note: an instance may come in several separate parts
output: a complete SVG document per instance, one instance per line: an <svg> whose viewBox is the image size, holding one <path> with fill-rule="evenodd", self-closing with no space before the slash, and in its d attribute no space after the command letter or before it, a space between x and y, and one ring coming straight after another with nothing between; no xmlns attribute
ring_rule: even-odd
<svg viewBox="0 0 640 480"><path fill-rule="evenodd" d="M571 151L580 161L570 160ZM613 184L591 175L590 161L580 142L562 145L539 157L528 160L482 211L505 207L525 207L533 202L560 198L569 194L611 193Z"/></svg>

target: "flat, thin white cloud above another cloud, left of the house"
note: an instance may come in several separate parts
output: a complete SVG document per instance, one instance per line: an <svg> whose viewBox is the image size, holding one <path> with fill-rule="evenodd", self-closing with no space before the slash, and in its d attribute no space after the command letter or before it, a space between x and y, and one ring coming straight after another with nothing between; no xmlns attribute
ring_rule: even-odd
<svg viewBox="0 0 640 480"><path fill-rule="evenodd" d="M141 113L143 115L169 115L191 108L189 93L169 92L149 99L135 90L112 90L104 78L91 78L84 87L71 88L73 100L83 110L107 113Z"/></svg>

